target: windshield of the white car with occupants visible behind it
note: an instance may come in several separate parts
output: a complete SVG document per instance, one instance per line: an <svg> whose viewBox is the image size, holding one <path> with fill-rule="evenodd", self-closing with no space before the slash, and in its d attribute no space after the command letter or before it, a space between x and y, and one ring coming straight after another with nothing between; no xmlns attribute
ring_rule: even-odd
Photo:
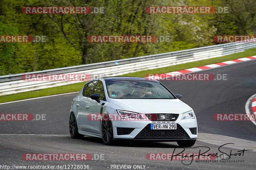
<svg viewBox="0 0 256 170"><path fill-rule="evenodd" d="M175 99L162 84L156 81L108 81L108 96L119 99Z"/></svg>

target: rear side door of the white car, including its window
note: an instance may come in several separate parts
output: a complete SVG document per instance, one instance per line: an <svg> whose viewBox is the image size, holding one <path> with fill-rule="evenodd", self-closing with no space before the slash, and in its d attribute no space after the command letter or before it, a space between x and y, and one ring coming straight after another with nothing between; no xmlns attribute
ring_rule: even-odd
<svg viewBox="0 0 256 170"><path fill-rule="evenodd" d="M80 100L77 101L77 125L79 130L86 131L87 129L87 115L86 115L86 107L88 107L88 103L90 102L90 95L93 93L93 90L97 84L97 81L89 82L83 90L83 95L80 96Z"/></svg>

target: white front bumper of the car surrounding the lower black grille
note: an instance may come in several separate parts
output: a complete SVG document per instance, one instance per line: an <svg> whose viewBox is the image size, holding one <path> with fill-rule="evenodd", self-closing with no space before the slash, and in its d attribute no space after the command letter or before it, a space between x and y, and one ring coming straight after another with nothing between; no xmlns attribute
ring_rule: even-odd
<svg viewBox="0 0 256 170"><path fill-rule="evenodd" d="M177 141L194 140L197 138L196 118L181 120L179 115L176 121L112 121L114 129L114 139L133 139L133 140L155 140L155 141ZM177 124L177 130L151 130L150 124Z"/></svg>

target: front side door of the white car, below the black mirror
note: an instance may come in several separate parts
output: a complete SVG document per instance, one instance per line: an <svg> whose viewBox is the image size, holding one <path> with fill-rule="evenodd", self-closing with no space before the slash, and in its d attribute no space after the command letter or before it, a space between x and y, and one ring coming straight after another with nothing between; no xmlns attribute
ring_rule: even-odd
<svg viewBox="0 0 256 170"><path fill-rule="evenodd" d="M86 131L92 132L92 133L98 133L101 134L100 131L100 118L103 110L103 103L105 103L105 92L103 88L103 84L101 81L98 81L93 94L100 94L100 103L96 102L95 100L92 100L91 98L87 101L86 105Z"/></svg>

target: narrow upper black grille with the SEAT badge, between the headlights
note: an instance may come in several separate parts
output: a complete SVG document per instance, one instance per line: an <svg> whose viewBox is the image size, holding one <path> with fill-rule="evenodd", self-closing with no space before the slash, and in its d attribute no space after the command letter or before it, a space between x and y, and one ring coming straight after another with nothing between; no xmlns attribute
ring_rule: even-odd
<svg viewBox="0 0 256 170"><path fill-rule="evenodd" d="M176 121L179 117L179 114L170 114L170 113L148 113L145 114L151 121Z"/></svg>

